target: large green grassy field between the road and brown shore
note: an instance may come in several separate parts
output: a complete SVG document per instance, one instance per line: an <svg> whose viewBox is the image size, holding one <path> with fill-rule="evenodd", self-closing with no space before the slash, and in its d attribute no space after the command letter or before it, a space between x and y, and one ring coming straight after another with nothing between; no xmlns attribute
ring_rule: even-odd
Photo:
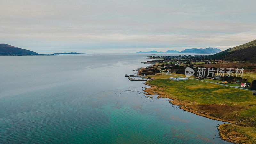
<svg viewBox="0 0 256 144"><path fill-rule="evenodd" d="M163 75L164 77L165 75ZM170 76L169 76L170 77ZM174 81L170 79L156 79L149 84L164 87L165 91L178 97L180 100L191 100L202 104L236 103L254 101L252 92L232 87L211 84L193 79Z"/></svg>

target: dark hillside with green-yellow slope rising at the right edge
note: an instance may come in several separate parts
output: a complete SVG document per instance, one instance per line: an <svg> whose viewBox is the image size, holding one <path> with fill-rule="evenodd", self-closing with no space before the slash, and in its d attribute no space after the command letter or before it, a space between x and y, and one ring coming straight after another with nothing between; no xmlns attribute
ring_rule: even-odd
<svg viewBox="0 0 256 144"><path fill-rule="evenodd" d="M256 40L211 56L216 60L256 61Z"/></svg>

